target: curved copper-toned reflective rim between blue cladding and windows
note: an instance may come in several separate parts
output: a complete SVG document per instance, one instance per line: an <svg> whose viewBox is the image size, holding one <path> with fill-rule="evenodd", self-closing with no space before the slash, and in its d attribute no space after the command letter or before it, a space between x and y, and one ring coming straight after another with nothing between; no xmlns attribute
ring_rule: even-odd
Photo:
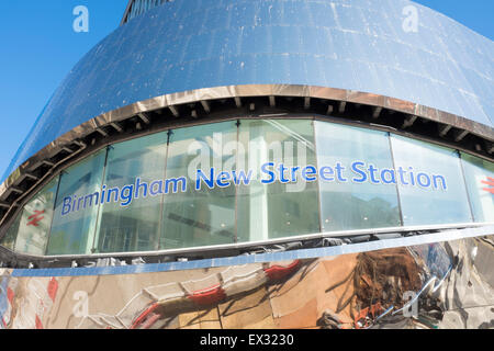
<svg viewBox="0 0 494 351"><path fill-rule="evenodd" d="M345 89L291 84L249 84L198 89L148 99L101 114L58 137L16 168L15 171L0 184L0 207L8 208L2 217L5 219L12 211L15 211L16 206L20 205L33 189L36 189L53 174L53 170L56 167L80 154L87 147L82 139L93 133L100 133L103 136L108 136L108 132L103 128L111 127L113 129L119 129L120 122L135 116L149 123L146 113L159 109L169 109L175 117L180 117L180 113L178 112L180 105L200 103L205 110L205 113L209 114L211 112L209 102L214 100L235 99L237 106L239 106L242 105L242 99L262 97L303 98L305 99L305 104L310 104L311 99L333 101L339 106L340 113L345 111L346 103L367 105L372 109L372 120L375 121L375 124L379 123L381 112L388 110L400 113L396 114L395 118L396 121L401 118L400 123L403 123L402 129L405 132L417 118L424 118L437 123L438 127L434 129L438 136L445 137L446 134L453 133L452 140L461 141L467 135L472 134L485 140L487 147L484 148L484 150L486 150L490 156L494 155L494 128L437 109L423 106L400 99ZM330 110L328 109L327 114L333 115L333 107ZM336 111L335 113L337 114ZM190 114L187 116L190 116ZM445 143L448 144L448 140ZM449 144L454 145L451 140L449 140ZM66 156L55 163L52 159L59 152L65 152ZM46 171L43 177L34 177L33 171L41 166L47 166L49 170ZM31 185L30 189L20 188L19 184L26 179L34 180L34 184ZM12 193L16 195L16 199L7 203L5 200ZM0 220L0 225L3 223L3 219Z"/></svg>

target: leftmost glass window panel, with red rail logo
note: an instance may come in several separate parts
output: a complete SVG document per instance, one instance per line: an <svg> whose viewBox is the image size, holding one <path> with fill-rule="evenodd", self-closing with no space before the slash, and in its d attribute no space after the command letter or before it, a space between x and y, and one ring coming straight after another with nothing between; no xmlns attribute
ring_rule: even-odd
<svg viewBox="0 0 494 351"><path fill-rule="evenodd" d="M45 254L52 225L58 178L49 182L23 208L19 223L15 251Z"/></svg>

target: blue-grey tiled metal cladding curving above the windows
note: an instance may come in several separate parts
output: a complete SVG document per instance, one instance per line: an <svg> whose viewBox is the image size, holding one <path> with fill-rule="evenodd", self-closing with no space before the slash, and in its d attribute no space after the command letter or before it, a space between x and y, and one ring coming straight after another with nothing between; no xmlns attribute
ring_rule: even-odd
<svg viewBox="0 0 494 351"><path fill-rule="evenodd" d="M417 32L403 29L409 5ZM74 67L3 179L92 117L200 88L358 90L492 127L493 63L492 41L407 0L177 0L131 20Z"/></svg>

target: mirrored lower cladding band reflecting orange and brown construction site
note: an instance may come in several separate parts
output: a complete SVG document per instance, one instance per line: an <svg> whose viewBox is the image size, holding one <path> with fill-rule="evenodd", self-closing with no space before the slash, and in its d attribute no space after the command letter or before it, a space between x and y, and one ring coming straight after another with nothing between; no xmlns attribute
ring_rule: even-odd
<svg viewBox="0 0 494 351"><path fill-rule="evenodd" d="M190 271L5 274L0 313L7 328L492 327L493 260L492 241L464 239Z"/></svg>

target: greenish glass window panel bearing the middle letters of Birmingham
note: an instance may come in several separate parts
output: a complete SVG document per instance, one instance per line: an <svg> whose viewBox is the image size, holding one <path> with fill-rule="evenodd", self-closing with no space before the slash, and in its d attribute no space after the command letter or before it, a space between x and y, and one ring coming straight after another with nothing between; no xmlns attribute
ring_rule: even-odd
<svg viewBox="0 0 494 351"><path fill-rule="evenodd" d="M109 147L98 252L158 249L167 140L158 133Z"/></svg>

